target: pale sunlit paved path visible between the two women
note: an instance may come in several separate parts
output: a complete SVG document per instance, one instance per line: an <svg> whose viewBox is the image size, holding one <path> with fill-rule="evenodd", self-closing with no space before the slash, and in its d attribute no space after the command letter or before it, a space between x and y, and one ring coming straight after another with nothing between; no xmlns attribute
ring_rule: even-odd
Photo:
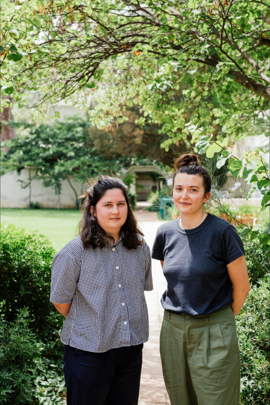
<svg viewBox="0 0 270 405"><path fill-rule="evenodd" d="M162 222L158 220L156 213L145 211L142 208L138 207L135 214L144 233L144 238L151 249L157 229ZM160 329L163 318L160 299L167 288L167 282L162 273L161 264L157 260L152 260L152 273L154 289L145 292L149 313L149 340L144 344L143 348L138 405L169 405L170 400L163 381L159 351Z"/></svg>

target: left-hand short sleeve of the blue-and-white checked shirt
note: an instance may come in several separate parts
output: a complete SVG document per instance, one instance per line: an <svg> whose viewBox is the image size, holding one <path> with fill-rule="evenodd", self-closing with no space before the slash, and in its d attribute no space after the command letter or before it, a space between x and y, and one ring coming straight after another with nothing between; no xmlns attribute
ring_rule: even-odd
<svg viewBox="0 0 270 405"><path fill-rule="evenodd" d="M56 304L70 304L76 283L80 276L81 264L67 252L60 251L53 258L50 301Z"/></svg>

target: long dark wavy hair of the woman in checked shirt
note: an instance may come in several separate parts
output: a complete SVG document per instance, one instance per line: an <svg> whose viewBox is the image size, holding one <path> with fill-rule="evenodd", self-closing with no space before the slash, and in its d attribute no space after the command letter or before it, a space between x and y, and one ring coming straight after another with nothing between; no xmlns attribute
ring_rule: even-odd
<svg viewBox="0 0 270 405"><path fill-rule="evenodd" d="M95 210L97 202L106 191L118 188L123 192L128 208L127 220L121 228L121 231L124 233L123 246L127 249L138 248L143 242L139 235L144 235L139 229L137 220L132 212L128 199L128 187L122 180L110 176L100 176L98 180L93 183L88 182L88 184L90 187L86 193L79 197L85 198L81 210L83 217L79 223L79 234L81 235L84 247L86 249L90 247L103 248L106 244L106 238L114 241L113 237L106 235L104 229L99 226L96 217L90 212L90 207L93 206Z"/></svg>

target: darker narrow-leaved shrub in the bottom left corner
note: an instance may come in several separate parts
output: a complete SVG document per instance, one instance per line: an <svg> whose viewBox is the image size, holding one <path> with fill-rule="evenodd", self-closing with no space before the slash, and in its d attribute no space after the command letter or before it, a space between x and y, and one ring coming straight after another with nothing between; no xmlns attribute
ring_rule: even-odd
<svg viewBox="0 0 270 405"><path fill-rule="evenodd" d="M0 323L0 403L38 403L32 370L40 360L42 345L28 329L29 312L21 309L12 323Z"/></svg>

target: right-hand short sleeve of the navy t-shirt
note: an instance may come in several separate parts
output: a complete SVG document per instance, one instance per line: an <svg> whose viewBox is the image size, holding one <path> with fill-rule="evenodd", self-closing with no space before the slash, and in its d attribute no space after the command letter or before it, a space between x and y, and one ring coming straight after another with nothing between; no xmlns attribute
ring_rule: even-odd
<svg viewBox="0 0 270 405"><path fill-rule="evenodd" d="M221 249L226 265L246 254L242 239L233 225L227 225L223 230L221 234Z"/></svg>

